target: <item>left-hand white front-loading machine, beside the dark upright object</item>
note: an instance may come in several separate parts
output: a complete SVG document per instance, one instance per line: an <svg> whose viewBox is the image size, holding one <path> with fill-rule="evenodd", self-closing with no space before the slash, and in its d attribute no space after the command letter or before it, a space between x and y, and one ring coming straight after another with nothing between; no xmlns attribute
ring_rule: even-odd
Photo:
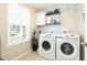
<svg viewBox="0 0 87 65"><path fill-rule="evenodd" d="M52 33L40 34L37 52L45 58L55 59L55 35Z"/></svg>

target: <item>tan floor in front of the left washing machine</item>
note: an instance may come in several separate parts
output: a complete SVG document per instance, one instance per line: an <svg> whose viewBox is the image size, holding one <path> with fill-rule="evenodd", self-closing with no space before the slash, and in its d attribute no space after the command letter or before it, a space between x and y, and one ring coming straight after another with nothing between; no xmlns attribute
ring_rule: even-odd
<svg viewBox="0 0 87 65"><path fill-rule="evenodd" d="M48 59L40 56L36 52L32 52L32 53L28 53L26 55L19 58L18 61L48 61Z"/></svg>

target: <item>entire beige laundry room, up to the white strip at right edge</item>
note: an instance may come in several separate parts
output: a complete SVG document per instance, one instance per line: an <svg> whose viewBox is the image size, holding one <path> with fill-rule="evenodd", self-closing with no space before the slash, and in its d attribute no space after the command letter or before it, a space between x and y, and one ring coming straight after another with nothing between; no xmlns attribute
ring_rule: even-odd
<svg viewBox="0 0 87 65"><path fill-rule="evenodd" d="M84 61L83 3L0 3L0 61Z"/></svg>

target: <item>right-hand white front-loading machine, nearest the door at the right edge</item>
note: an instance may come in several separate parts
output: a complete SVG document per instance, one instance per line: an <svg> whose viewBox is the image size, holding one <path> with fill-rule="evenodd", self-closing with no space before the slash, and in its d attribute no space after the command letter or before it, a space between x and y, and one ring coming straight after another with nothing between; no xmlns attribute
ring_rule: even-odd
<svg viewBox="0 0 87 65"><path fill-rule="evenodd" d="M59 34L56 36L56 59L79 61L79 35Z"/></svg>

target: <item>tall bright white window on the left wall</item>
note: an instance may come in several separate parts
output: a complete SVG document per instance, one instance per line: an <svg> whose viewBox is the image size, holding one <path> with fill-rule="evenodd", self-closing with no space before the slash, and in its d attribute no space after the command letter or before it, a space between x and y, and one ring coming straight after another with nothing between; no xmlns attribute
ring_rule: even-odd
<svg viewBox="0 0 87 65"><path fill-rule="evenodd" d="M30 10L18 3L8 4L8 45L30 40Z"/></svg>

